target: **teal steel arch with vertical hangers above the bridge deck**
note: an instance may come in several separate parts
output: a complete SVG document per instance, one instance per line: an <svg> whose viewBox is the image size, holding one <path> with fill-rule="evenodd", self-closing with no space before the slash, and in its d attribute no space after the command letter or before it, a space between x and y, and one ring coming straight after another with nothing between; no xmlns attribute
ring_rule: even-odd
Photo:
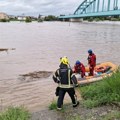
<svg viewBox="0 0 120 120"><path fill-rule="evenodd" d="M84 0L74 15L120 9L120 0Z"/></svg>

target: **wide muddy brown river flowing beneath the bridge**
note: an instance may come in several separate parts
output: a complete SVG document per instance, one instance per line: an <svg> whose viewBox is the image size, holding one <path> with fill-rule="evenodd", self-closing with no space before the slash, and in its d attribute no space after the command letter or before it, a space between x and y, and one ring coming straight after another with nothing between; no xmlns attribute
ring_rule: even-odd
<svg viewBox="0 0 120 120"><path fill-rule="evenodd" d="M47 79L22 81L21 74L55 71L59 58L67 56L71 66L76 60L87 65L87 50L92 49L97 63L120 64L120 24L42 22L0 23L1 108L25 105L40 109L54 98L51 76Z"/></svg>

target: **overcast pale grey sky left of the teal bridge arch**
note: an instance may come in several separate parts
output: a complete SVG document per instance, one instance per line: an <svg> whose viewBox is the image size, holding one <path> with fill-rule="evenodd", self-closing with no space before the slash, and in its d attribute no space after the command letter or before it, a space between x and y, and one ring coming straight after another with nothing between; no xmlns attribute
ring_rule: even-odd
<svg viewBox="0 0 120 120"><path fill-rule="evenodd" d="M9 15L72 14L83 0L0 0L0 12Z"/></svg>

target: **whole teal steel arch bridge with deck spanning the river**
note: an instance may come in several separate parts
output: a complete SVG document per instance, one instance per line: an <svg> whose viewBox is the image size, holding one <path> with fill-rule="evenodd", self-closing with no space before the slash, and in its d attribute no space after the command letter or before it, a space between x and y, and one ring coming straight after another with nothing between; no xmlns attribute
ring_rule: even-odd
<svg viewBox="0 0 120 120"><path fill-rule="evenodd" d="M59 18L84 18L120 15L120 0L84 0L71 15Z"/></svg>

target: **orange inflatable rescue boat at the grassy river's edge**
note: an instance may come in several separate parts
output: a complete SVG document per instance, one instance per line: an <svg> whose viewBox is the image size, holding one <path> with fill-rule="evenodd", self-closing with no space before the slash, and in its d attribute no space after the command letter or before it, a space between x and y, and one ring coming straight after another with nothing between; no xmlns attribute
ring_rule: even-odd
<svg viewBox="0 0 120 120"><path fill-rule="evenodd" d="M113 72L117 70L117 68L117 65L113 64L112 62L104 62L96 65L94 76L88 76L89 67L85 67L86 77L81 78L78 74L76 74L76 77L80 85L89 84L92 82L102 80L103 77L110 76Z"/></svg>

